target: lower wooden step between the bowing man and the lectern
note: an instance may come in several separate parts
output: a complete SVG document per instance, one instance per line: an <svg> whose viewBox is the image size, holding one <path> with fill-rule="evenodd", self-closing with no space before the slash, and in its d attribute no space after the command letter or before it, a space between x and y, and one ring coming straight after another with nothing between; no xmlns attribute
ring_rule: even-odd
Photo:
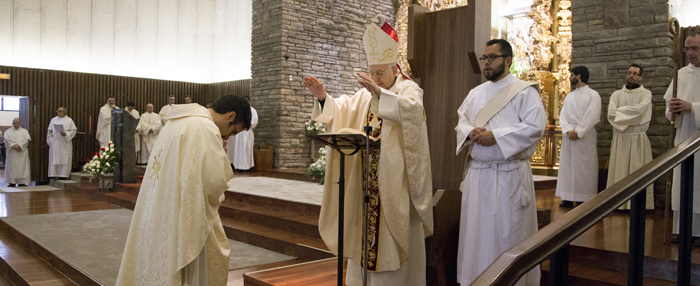
<svg viewBox="0 0 700 286"><path fill-rule="evenodd" d="M279 253L295 256L302 261L333 257L321 239L282 230L236 221L222 217L226 236Z"/></svg>

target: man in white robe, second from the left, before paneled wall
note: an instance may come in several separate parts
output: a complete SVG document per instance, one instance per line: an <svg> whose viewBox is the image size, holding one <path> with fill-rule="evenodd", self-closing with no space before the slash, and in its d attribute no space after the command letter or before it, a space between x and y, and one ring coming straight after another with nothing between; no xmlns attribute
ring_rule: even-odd
<svg viewBox="0 0 700 286"><path fill-rule="evenodd" d="M73 137L78 131L73 119L66 114L65 107L59 107L58 116L51 119L46 132L49 145L49 177L66 179L70 177L73 163Z"/></svg>

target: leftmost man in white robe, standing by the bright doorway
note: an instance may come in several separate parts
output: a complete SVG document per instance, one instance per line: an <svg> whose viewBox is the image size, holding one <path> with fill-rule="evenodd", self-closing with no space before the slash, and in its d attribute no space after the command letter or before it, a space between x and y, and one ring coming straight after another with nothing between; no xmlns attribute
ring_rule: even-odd
<svg viewBox="0 0 700 286"><path fill-rule="evenodd" d="M5 131L5 146L7 158L5 158L5 183L15 186L27 185L32 179L29 168L29 136L27 129L22 128L19 118L12 120L12 128Z"/></svg>

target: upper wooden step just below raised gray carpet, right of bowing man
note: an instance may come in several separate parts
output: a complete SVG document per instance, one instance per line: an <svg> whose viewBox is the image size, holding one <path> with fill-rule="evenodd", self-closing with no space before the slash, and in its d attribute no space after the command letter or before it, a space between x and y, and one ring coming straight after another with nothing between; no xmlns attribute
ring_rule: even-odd
<svg viewBox="0 0 700 286"><path fill-rule="evenodd" d="M299 215L294 212L273 210L241 203L223 201L219 207L221 217L261 225L286 232L320 239L318 218Z"/></svg>

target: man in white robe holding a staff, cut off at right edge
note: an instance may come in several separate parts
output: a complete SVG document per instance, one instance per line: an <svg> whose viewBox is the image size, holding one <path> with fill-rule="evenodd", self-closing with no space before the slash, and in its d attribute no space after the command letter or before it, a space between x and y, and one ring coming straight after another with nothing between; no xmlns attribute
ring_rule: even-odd
<svg viewBox="0 0 700 286"><path fill-rule="evenodd" d="M673 98L673 83L669 85L666 99L666 118L675 121L678 145L700 129L700 33L691 33L685 39L683 52L690 64L678 70L677 97ZM700 246L700 155L695 153L695 179L693 185L693 244ZM673 233L678 234L680 211L680 166L673 169L671 206L673 209Z"/></svg>

